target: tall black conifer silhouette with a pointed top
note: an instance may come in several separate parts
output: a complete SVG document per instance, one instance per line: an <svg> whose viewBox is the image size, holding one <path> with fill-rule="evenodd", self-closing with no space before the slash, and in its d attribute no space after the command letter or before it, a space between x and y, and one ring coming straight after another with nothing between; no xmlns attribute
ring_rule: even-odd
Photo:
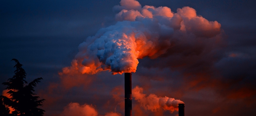
<svg viewBox="0 0 256 116"><path fill-rule="evenodd" d="M15 109L12 112L14 116L43 116L45 110L38 108L38 106L43 106L42 103L45 99L38 100L39 96L34 96L36 94L33 93L35 92L34 87L43 78L37 78L25 86L27 84L25 80L27 74L22 68L22 64L17 59L12 60L16 62L14 66L16 68L15 75L3 83L7 86L5 89L9 90L7 94L10 94L11 98L8 101L7 97L3 97L4 104Z"/></svg>

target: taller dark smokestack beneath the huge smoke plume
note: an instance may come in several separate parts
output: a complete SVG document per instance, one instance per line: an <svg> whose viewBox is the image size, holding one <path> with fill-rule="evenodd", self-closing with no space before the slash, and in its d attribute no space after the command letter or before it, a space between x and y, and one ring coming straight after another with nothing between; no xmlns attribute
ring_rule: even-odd
<svg viewBox="0 0 256 116"><path fill-rule="evenodd" d="M132 73L124 73L124 116L132 116Z"/></svg>

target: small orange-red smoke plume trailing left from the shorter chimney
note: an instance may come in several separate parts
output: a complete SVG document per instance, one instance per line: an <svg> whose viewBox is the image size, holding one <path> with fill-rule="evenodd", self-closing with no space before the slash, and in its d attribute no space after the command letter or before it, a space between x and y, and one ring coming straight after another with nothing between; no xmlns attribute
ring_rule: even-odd
<svg viewBox="0 0 256 116"><path fill-rule="evenodd" d="M159 108L169 110L171 113L179 111L178 104L184 103L181 100L170 97L158 97L155 94L143 94L143 88L136 86L132 89L132 96L145 110L157 111Z"/></svg>

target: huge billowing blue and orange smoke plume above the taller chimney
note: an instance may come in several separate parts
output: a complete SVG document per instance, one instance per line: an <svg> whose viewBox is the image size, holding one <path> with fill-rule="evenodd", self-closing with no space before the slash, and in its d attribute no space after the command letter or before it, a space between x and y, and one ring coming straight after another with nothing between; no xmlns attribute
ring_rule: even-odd
<svg viewBox="0 0 256 116"><path fill-rule="evenodd" d="M174 13L168 7L142 7L136 0L121 0L120 5L113 8L119 12L115 16L118 22L81 43L72 66L65 67L63 74L136 72L140 58L157 58L172 49L176 41L211 38L221 30L218 22L197 16L190 7Z"/></svg>

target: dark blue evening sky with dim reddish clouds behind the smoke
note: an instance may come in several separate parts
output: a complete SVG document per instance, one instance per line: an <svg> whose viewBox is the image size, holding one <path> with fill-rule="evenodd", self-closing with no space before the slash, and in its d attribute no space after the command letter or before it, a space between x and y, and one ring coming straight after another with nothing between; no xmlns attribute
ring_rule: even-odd
<svg viewBox="0 0 256 116"><path fill-rule="evenodd" d="M186 110L188 109L186 114L190 115L201 111L198 109L200 107L207 107L202 112L212 116L224 116L227 113L236 116L256 115L253 111L256 108L256 4L254 1L138 1L141 6L167 6L174 13L177 12L177 8L189 6L196 10L197 15L208 21L220 23L225 36L221 53L212 64L217 71L211 73L217 76L200 82L205 84L199 83L192 88L182 88L178 83L190 83L199 79L183 77L186 80L184 81L179 76L185 70L169 69L164 64L163 67L154 66L154 63L161 64L161 59L165 59L163 56L153 60L149 58L139 60L137 72L134 74L138 78L133 80L133 87L139 85L147 88L148 94L155 93L159 96L165 96L164 93L158 92L159 90L173 91L174 94L167 93L166 96L183 100L188 106L186 106ZM78 45L88 36L95 35L99 29L116 24L116 13L112 9L115 5L119 5L119 2L119 0L1 0L0 82L6 82L14 75L15 63L11 59L16 58L24 65L28 81L39 77L44 79L39 83L36 91L44 98L44 94L48 93L42 91L47 91L49 85L62 83L58 73L62 68L70 66L70 62L78 52ZM236 57L229 57L232 53ZM152 65L148 62L152 62ZM148 74L147 71L158 73ZM173 78L168 78L170 75ZM89 79L86 79L91 81L89 84L78 84L67 90L61 87L59 87L61 90L56 89L58 91L56 93L62 96L61 98L58 95L49 95L58 100L46 103L43 107L46 116L62 112L63 107L69 102L96 105L101 115L112 111L102 104L106 105L106 102L112 98L111 90L114 87L123 85L123 75L113 76L111 73L101 72L88 77ZM216 81L220 86L210 86L211 81ZM5 87L0 86L0 88L3 90ZM229 97L237 94L249 95ZM95 96L104 96L104 98L95 100ZM216 103L213 102L214 100ZM239 102L235 103L236 101ZM249 101L251 103L247 103ZM232 109L218 108L218 103L231 103L225 106L232 106ZM192 108L195 105L198 107ZM213 109L218 110L213 113ZM169 115L168 111L163 112L164 115ZM119 113L122 114L122 110Z"/></svg>

